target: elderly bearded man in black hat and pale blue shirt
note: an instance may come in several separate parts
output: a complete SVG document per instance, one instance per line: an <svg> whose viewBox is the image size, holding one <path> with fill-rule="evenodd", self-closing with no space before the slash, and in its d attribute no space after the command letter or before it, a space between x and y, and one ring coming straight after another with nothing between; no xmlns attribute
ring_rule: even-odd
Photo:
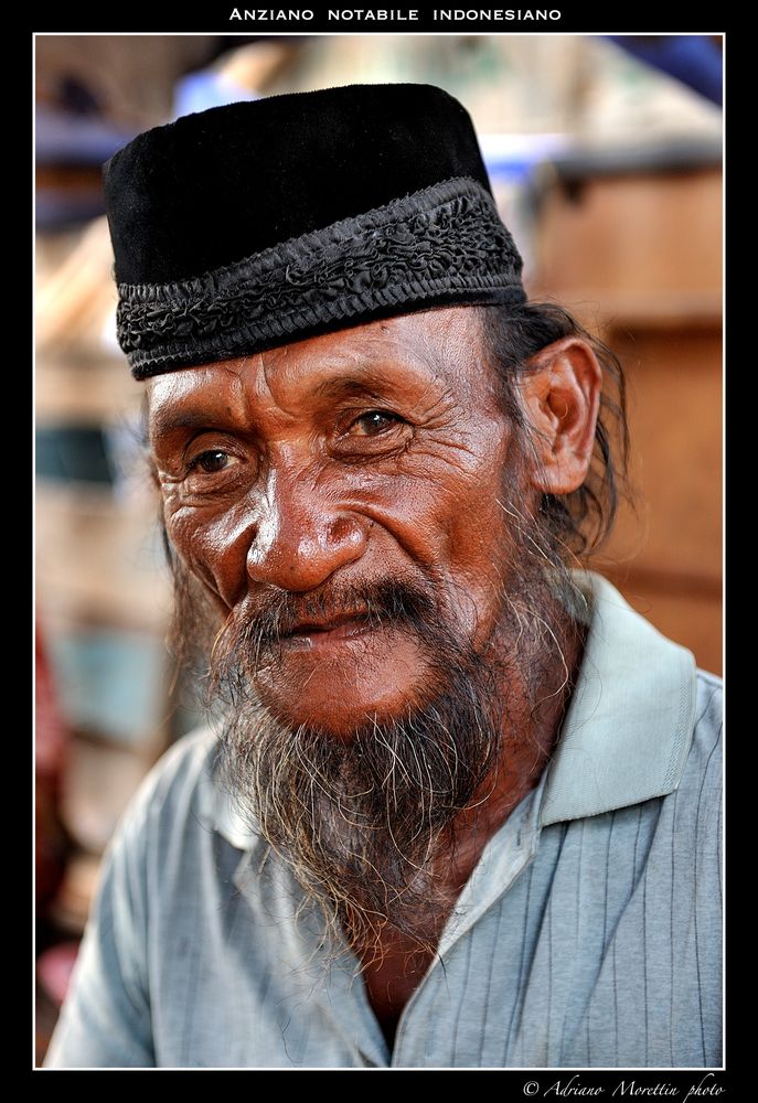
<svg viewBox="0 0 758 1103"><path fill-rule="evenodd" d="M109 162L212 722L105 863L52 1067L720 1061L718 682L577 556L604 368L428 86Z"/></svg>

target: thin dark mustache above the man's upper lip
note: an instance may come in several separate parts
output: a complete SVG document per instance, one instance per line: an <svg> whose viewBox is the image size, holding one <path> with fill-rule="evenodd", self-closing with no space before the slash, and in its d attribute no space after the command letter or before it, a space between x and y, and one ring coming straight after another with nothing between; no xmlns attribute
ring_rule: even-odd
<svg viewBox="0 0 758 1103"><path fill-rule="evenodd" d="M402 624L417 633L439 617L437 602L413 582L376 580L335 586L299 595L270 590L255 596L245 610L241 642L276 647L303 627L363 620L373 628Z"/></svg>

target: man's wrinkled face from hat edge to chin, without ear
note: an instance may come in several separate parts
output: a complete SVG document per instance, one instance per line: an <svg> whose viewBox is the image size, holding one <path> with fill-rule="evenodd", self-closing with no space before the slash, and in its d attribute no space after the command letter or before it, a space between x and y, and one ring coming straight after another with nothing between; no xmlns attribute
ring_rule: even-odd
<svg viewBox="0 0 758 1103"><path fill-rule="evenodd" d="M420 634L371 615L375 591L406 587L479 654L497 644L498 502L519 468L482 347L462 307L150 382L169 538L218 627L276 620L252 671L287 722L344 737L441 688Z"/></svg>

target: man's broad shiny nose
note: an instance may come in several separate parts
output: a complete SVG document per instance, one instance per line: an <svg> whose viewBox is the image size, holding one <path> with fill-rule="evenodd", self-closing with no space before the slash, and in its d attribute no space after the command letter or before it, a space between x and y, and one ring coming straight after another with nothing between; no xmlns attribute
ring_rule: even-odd
<svg viewBox="0 0 758 1103"><path fill-rule="evenodd" d="M371 521L292 471L271 471L247 554L252 581L305 592L364 554Z"/></svg>

